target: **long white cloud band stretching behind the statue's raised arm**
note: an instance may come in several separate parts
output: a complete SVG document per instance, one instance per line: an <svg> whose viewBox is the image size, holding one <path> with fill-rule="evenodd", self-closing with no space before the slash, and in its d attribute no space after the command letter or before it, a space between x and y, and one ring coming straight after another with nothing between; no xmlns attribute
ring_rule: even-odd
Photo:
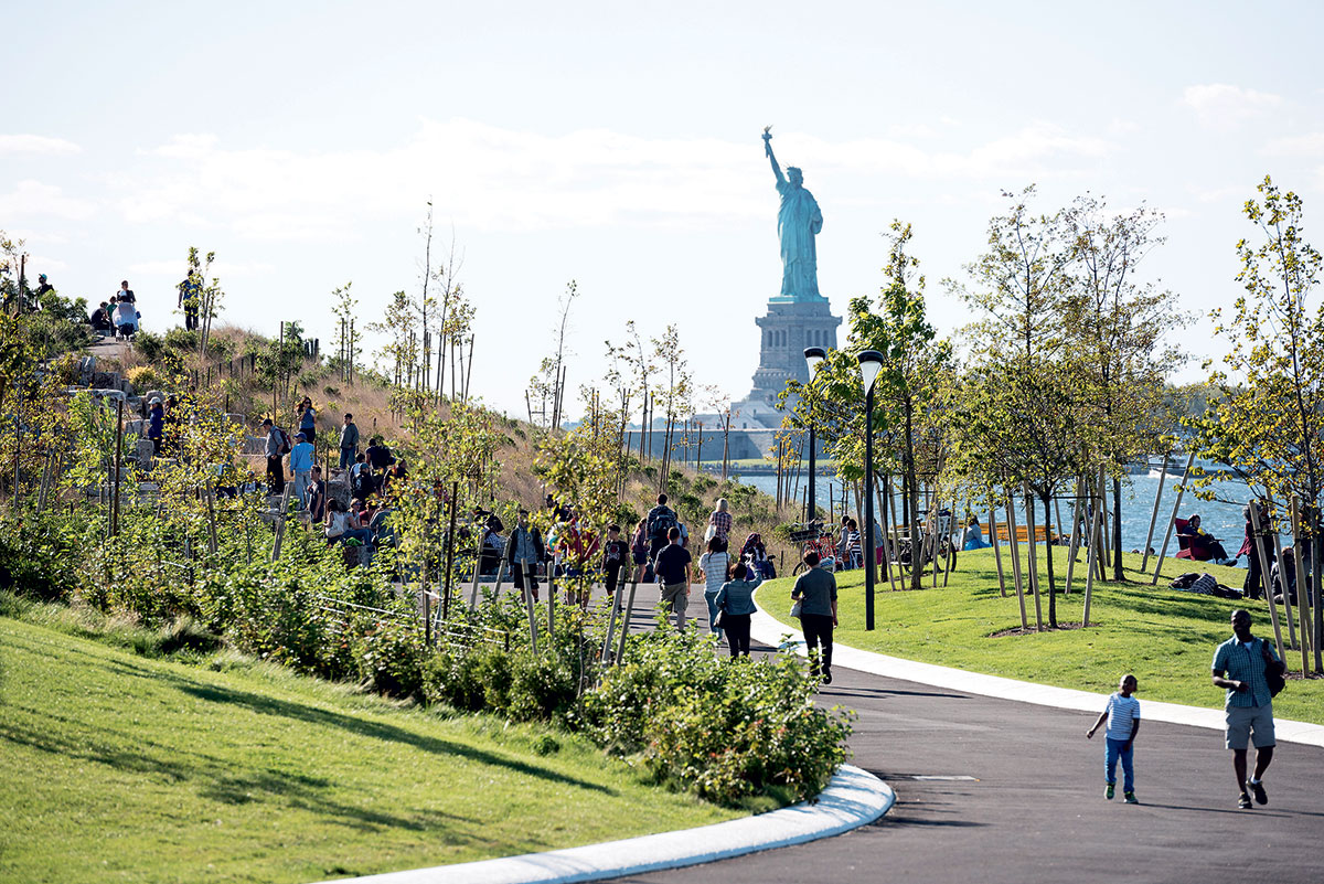
<svg viewBox="0 0 1324 884"><path fill-rule="evenodd" d="M1031 123L965 152L891 139L775 139L784 165L814 181L833 175L1038 177L1092 160L1112 144ZM139 173L110 185L131 222L225 226L273 241L348 242L373 218L417 210L481 230L632 225L716 228L765 217L771 175L757 144L649 139L608 130L544 135L467 119L422 120L409 142L380 151L226 150L188 134L143 151Z"/></svg>

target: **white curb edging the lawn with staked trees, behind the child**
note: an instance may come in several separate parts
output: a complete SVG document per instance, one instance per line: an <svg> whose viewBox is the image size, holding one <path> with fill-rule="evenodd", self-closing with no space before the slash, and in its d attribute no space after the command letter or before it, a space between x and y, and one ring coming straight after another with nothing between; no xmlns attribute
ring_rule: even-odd
<svg viewBox="0 0 1324 884"><path fill-rule="evenodd" d="M804 655L805 643L796 635L797 631L794 627L786 626L763 610L755 614L751 622L752 637L773 647L781 644L782 635L792 633L793 638L788 642L788 647L793 647L797 654ZM863 651L849 644L833 644L833 664L890 679L948 688L949 691L965 691L967 693L1001 697L1004 700L1019 700L1021 703L1050 705L1058 709L1078 709L1080 712L1102 712L1108 696L1107 693L1091 693L1090 691L1074 691L1071 688L1034 684L1033 682L1018 682L997 675L967 672L965 670L955 670L948 666L916 663L915 660L903 660L896 656L887 656L886 654ZM1288 685L1288 689L1291 689L1291 685ZM1185 724L1211 730L1222 730L1225 728L1222 709L1202 709L1193 705L1158 703L1157 700L1145 699L1141 699L1141 705L1148 721ZM1274 733L1282 742L1324 746L1324 727L1317 724L1275 717Z"/></svg>

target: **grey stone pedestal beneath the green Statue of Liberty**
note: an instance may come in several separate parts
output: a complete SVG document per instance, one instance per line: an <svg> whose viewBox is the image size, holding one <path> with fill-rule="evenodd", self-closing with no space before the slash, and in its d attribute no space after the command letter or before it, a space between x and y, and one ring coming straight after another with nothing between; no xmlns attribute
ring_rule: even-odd
<svg viewBox="0 0 1324 884"><path fill-rule="evenodd" d="M781 425L782 412L777 410L777 397L786 381L809 380L805 363L806 347L837 347L837 327L841 318L831 315L826 298L789 300L772 298L768 312L755 319L761 332L759 369L753 373L753 389L736 404L740 416L736 425L775 427Z"/></svg>

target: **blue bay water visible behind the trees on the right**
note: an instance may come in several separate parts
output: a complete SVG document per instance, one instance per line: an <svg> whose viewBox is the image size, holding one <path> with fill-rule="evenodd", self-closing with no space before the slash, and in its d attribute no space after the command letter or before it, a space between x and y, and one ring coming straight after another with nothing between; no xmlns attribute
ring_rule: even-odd
<svg viewBox="0 0 1324 884"><path fill-rule="evenodd" d="M741 476L740 480L747 484L752 484L769 495L775 495L777 492L777 476L775 475ZM801 482L804 480L801 479ZM1162 500L1158 504L1158 520L1155 525L1155 537L1149 544L1156 551L1160 545L1162 545L1164 528L1172 517L1172 506L1177 499L1176 486L1176 478L1172 475L1166 476L1164 480ZM1132 549L1144 549L1145 535L1149 531L1149 517L1153 513L1155 492L1157 490L1157 472L1151 475L1127 476L1121 482L1121 548L1127 552L1131 552ZM1192 513L1200 513L1201 527L1223 543L1229 556L1235 556L1237 551L1241 549L1242 539L1245 537L1246 519L1242 516L1242 507L1245 506L1245 502L1250 499L1250 490L1239 480L1218 483L1213 490L1221 500L1198 500L1194 494L1188 490L1182 495L1178 515L1182 519L1186 519ZM804 494L802 486L801 494ZM1070 531L1070 483L1067 490L1062 494L1063 498L1058 503L1062 508L1063 528ZM814 486L814 496L818 498L818 506L825 511L828 509L829 500L835 500L833 508L837 511L841 509L841 483L835 479L830 476L818 476ZM1237 503L1222 503L1222 500L1235 500ZM854 512L854 503L851 503L851 512ZM978 516L981 523L988 524L986 512L981 512ZM1025 512L1022 503L1021 508L1017 511L1017 520L1022 521L1023 516ZM1042 519L1041 507L1035 507L1035 517L1037 520ZM1001 521L1001 513L998 520ZM1172 556L1176 552L1177 539L1174 536L1168 543L1168 554ZM1238 564L1245 566L1246 557L1243 556Z"/></svg>

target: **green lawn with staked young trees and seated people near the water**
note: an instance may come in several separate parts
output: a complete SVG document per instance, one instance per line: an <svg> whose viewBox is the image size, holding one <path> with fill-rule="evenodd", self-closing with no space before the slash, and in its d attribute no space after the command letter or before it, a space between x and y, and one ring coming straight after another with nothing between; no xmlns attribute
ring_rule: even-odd
<svg viewBox="0 0 1324 884"><path fill-rule="evenodd" d="M1038 547L1038 566L1043 588L1042 607L1047 623L1049 598L1043 547ZM1054 549L1058 576L1058 621L1080 622L1083 607L1084 556L1076 566L1072 592L1061 596L1066 572L1066 549ZM1010 561L1004 548L1004 566ZM1149 560L1153 573L1155 560ZM1170 589L1172 577L1186 570L1207 570L1227 586L1241 589L1245 569L1219 568L1189 561L1164 564L1158 586L1132 570L1140 556L1125 556L1128 582L1095 582L1090 606L1091 627L1064 629L1033 635L993 633L1021 625L1014 590L998 596L997 569L992 549L960 553L957 570L948 586L922 592L891 592L882 577L875 593L875 630L866 633L863 570L837 574L841 629L837 641L853 647L925 663L940 663L973 672L1054 684L1086 691L1116 689L1123 672L1140 679L1140 697L1189 705L1222 708L1223 692L1209 683L1214 647L1231 635L1229 615L1237 602L1194 596ZM759 603L784 623L793 623L789 578L775 580L759 589ZM1026 614L1034 627L1034 599L1026 596ZM1266 602L1246 602L1255 618L1254 630L1272 638ZM1282 617L1282 607L1279 607ZM1286 633L1286 623L1283 625ZM1288 652L1288 667L1300 671L1300 651ZM1324 724L1324 679L1290 680L1274 700L1274 711L1284 719Z"/></svg>

